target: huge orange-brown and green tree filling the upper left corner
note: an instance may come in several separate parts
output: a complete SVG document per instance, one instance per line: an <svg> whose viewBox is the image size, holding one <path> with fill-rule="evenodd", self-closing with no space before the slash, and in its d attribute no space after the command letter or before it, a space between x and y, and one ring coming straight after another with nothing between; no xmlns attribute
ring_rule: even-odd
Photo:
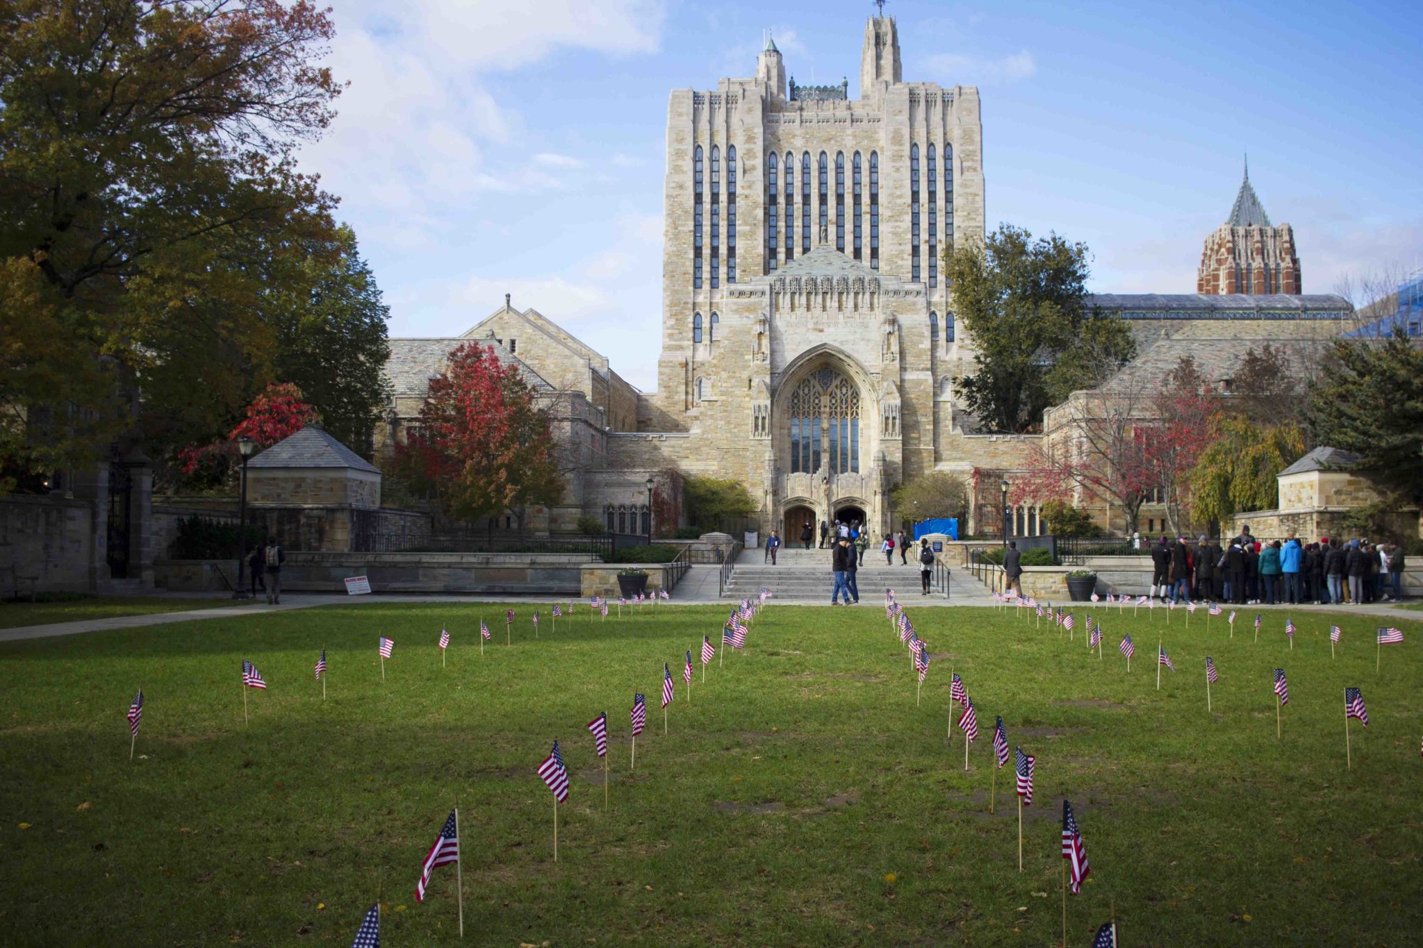
<svg viewBox="0 0 1423 948"><path fill-rule="evenodd" d="M273 354L249 252L333 226L295 162L332 34L305 0L0 4L0 465L232 424Z"/></svg>

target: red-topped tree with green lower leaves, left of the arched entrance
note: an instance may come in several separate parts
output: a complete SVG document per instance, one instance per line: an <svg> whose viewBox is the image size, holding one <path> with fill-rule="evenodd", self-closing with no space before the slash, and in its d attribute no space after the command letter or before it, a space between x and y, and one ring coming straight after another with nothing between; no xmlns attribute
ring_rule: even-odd
<svg viewBox="0 0 1423 948"><path fill-rule="evenodd" d="M464 343L450 352L398 455L397 463L414 459L460 520L512 510L522 529L529 506L562 495L548 414L518 365L502 364L492 345Z"/></svg>

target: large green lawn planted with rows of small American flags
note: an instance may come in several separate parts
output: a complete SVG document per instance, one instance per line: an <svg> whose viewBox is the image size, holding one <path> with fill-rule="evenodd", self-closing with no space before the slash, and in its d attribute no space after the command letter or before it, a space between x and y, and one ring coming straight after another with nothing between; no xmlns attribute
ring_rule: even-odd
<svg viewBox="0 0 1423 948"><path fill-rule="evenodd" d="M872 597L867 597L867 603ZM936 655L915 706L884 610L771 607L692 688L680 659L721 607L657 607L541 638L502 605L333 605L0 645L0 925L6 944L347 945L383 885L386 944L457 942L454 867L420 864L461 804L474 945L1047 945L1062 937L1060 812L1093 873L1069 944L1116 908L1126 945L1406 944L1423 925L1423 627L1375 674L1375 621L1266 614L1234 641L1100 610L1099 659L992 610L906 604ZM1086 610L1079 608L1081 623ZM481 657L478 617L494 644ZM1331 658L1328 628L1342 618ZM435 640L454 635L448 668ZM1131 674L1114 651L1137 641ZM381 684L377 635L396 641ZM1177 674L1155 689L1164 635ZM312 664L327 648L327 698ZM1204 659L1221 679L1205 711ZM270 688L249 692L239 665ZM662 733L662 662L677 678ZM945 743L951 665L979 713ZM1275 738L1272 669L1291 702ZM148 704L128 760L124 709ZM1352 722L1359 685L1370 726ZM629 773L628 709L649 731ZM586 722L610 722L610 800ZM1017 871L1012 766L990 814L990 735L1037 758ZM559 807L534 773L554 738ZM892 880L892 881L891 881ZM1407 932L1414 932L1409 935Z"/></svg>

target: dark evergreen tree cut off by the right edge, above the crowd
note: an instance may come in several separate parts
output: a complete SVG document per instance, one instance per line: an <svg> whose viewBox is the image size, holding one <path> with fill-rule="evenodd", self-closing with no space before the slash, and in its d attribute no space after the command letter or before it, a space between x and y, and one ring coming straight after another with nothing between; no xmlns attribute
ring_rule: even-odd
<svg viewBox="0 0 1423 948"><path fill-rule="evenodd" d="M1423 348L1402 330L1385 340L1338 340L1309 389L1316 445L1363 456L1409 503L1423 502Z"/></svg>

